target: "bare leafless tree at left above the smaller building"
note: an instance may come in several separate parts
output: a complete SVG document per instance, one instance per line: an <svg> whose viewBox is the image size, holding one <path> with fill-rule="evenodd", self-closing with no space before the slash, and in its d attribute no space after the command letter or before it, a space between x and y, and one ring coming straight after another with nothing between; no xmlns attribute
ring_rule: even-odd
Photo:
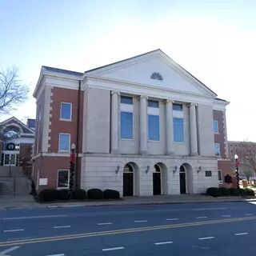
<svg viewBox="0 0 256 256"><path fill-rule="evenodd" d="M29 86L19 79L16 66L0 70L0 114L10 114L11 110L26 101L28 93Z"/></svg>

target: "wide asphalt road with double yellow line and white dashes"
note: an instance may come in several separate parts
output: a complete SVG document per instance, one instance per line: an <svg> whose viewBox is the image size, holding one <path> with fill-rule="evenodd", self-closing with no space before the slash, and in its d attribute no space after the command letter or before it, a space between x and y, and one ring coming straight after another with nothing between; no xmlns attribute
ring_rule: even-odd
<svg viewBox="0 0 256 256"><path fill-rule="evenodd" d="M6 210L0 256L254 254L255 224L247 202Z"/></svg>

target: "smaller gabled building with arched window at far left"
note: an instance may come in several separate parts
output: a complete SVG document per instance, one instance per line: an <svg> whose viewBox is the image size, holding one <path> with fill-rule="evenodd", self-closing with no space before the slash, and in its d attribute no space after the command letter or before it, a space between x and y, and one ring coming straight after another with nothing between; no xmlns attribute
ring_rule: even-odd
<svg viewBox="0 0 256 256"><path fill-rule="evenodd" d="M14 117L0 122L0 130L3 135L0 146L0 166L22 166L24 160L31 162L34 130Z"/></svg>

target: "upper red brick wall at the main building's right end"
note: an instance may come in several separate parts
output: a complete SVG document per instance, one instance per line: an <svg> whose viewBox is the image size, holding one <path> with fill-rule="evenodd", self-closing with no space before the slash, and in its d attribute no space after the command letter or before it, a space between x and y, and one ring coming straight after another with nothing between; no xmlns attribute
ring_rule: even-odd
<svg viewBox="0 0 256 256"><path fill-rule="evenodd" d="M219 143L221 158L226 158L225 112L214 110L214 120L218 120L218 134L214 134L214 142Z"/></svg>

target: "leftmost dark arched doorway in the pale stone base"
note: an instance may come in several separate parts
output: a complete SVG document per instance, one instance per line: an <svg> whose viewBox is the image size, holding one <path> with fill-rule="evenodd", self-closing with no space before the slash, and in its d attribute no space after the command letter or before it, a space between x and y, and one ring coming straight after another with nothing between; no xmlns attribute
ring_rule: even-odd
<svg viewBox="0 0 256 256"><path fill-rule="evenodd" d="M134 168L129 163L123 167L123 188L124 197L132 197L134 195Z"/></svg>

